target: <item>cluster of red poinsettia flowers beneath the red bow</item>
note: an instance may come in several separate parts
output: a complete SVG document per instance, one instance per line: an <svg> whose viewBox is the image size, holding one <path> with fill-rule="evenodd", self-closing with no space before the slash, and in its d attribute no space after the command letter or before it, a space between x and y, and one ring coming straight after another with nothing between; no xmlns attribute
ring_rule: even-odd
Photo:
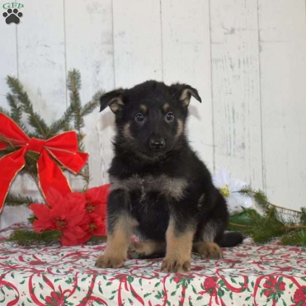
<svg viewBox="0 0 306 306"><path fill-rule="evenodd" d="M106 235L108 192L109 185L65 196L57 190L50 190L48 206L38 203L30 206L37 218L33 222L35 232L59 230L62 232L62 245L82 244L92 235Z"/></svg>

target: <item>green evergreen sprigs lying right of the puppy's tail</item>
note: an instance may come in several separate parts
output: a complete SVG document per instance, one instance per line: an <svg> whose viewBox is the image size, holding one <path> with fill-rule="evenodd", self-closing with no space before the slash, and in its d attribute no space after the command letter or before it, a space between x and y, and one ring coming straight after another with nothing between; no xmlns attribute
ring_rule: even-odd
<svg viewBox="0 0 306 306"><path fill-rule="evenodd" d="M297 222L286 220L286 209L272 205L262 191L245 187L239 192L252 196L264 213L261 215L253 209L244 209L243 212L231 216L228 230L250 236L256 243L267 243L279 237L283 244L306 246L305 208L302 208L301 212L295 212L300 215Z"/></svg>

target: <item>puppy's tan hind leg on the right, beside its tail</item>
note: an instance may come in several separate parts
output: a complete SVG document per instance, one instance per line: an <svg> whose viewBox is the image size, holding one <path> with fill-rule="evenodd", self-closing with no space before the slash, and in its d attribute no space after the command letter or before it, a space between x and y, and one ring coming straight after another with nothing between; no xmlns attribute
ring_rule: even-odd
<svg viewBox="0 0 306 306"><path fill-rule="evenodd" d="M218 224L209 221L202 230L201 239L193 244L193 251L202 258L220 259L223 258L220 246L214 242Z"/></svg>

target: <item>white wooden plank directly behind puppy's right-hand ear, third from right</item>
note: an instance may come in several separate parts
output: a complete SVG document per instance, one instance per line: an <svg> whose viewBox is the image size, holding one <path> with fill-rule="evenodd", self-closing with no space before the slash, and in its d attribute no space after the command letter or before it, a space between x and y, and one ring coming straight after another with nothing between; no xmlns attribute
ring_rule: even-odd
<svg viewBox="0 0 306 306"><path fill-rule="evenodd" d="M163 79L195 87L202 104L189 106L188 137L213 170L209 1L162 1Z"/></svg>

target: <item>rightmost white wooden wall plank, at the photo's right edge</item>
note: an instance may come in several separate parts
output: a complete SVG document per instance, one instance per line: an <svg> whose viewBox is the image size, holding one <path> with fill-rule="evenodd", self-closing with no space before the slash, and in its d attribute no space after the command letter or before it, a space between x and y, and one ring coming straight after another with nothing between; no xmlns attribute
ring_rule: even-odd
<svg viewBox="0 0 306 306"><path fill-rule="evenodd" d="M306 198L306 24L303 0L259 2L264 179L277 205Z"/></svg>

